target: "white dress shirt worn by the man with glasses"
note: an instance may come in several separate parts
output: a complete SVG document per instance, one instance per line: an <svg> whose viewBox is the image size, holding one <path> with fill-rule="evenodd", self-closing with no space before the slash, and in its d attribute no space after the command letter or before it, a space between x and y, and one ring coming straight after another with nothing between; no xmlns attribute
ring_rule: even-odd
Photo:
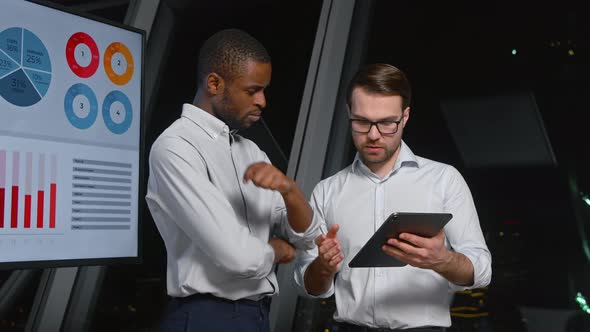
<svg viewBox="0 0 590 332"><path fill-rule="evenodd" d="M324 234L332 224L340 225L342 270L335 285L320 296L335 292L337 321L384 328L450 326L454 291L490 282L491 255L463 177L450 165L415 156L404 142L395 166L383 179L357 154L352 165L315 187L311 205ZM410 265L349 268L350 260L392 212L452 213L444 228L446 245L473 263L474 284L460 287L432 270ZM297 259L295 281L305 294L303 276L315 257L317 248Z"/></svg>

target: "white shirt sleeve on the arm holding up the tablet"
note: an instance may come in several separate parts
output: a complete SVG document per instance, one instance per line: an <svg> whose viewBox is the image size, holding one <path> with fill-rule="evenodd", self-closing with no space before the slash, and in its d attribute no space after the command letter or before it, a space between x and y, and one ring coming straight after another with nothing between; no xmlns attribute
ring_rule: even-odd
<svg viewBox="0 0 590 332"><path fill-rule="evenodd" d="M481 231L471 191L454 167L449 166L446 171L450 174L445 186L444 208L445 212L453 214L453 219L445 226L445 234L451 248L471 261L474 280L471 286L450 282L449 286L455 291L485 287L492 279L492 256Z"/></svg>

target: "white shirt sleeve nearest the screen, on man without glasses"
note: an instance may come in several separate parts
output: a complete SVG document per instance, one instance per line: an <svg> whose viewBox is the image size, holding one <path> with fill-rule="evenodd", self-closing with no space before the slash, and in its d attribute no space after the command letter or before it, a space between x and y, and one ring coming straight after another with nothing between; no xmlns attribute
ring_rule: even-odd
<svg viewBox="0 0 590 332"><path fill-rule="evenodd" d="M239 223L230 203L209 181L202 157L187 151L194 148L175 137L152 147L146 200L154 218L161 214L176 223L221 270L240 278L266 277L273 269L272 247Z"/></svg>

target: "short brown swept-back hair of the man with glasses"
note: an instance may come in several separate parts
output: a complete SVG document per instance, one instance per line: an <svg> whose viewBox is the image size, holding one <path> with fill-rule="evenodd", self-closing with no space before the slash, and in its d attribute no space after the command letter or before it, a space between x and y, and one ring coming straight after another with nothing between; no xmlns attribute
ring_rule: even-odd
<svg viewBox="0 0 590 332"><path fill-rule="evenodd" d="M346 102L352 101L352 91L361 88L370 94L402 97L402 110L410 106L412 89L410 81L400 69L385 63L366 65L361 68L348 84Z"/></svg>

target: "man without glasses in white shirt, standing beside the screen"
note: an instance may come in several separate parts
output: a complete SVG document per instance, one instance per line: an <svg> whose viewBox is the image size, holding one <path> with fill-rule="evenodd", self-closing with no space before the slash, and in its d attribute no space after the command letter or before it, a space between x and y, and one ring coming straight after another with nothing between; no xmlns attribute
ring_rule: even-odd
<svg viewBox="0 0 590 332"><path fill-rule="evenodd" d="M214 34L199 52L193 103L151 148L146 200L166 245L172 297L164 331L268 331L275 264L294 259L292 245L314 246L302 192L236 133L260 119L270 77L256 39Z"/></svg>

